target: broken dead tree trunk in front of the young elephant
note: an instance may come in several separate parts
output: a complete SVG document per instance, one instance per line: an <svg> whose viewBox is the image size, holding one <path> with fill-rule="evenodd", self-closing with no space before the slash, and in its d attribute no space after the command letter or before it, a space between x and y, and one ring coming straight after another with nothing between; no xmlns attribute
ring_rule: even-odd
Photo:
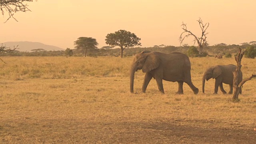
<svg viewBox="0 0 256 144"><path fill-rule="evenodd" d="M256 74L252 74L252 76L250 76L249 78L246 78L244 80L242 80L242 82L240 82L238 84L238 74L242 68L242 65L241 65L241 61L242 61L242 58L244 56L244 52L243 51L241 53L241 48L239 48L239 53L238 53L238 56L235 57L235 60L236 60L236 70L233 72L233 75L234 75L234 79L233 79L233 97L232 97L232 100L233 101L239 101L238 99L238 95L239 95L239 90L240 88L242 87L242 85L247 82L248 80L251 80L252 78L256 77Z"/></svg>

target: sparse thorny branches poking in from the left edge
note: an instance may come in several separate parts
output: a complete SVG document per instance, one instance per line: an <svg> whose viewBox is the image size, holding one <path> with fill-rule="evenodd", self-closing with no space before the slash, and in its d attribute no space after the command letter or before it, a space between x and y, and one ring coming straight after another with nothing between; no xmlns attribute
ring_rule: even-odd
<svg viewBox="0 0 256 144"><path fill-rule="evenodd" d="M2 15L4 16L5 12L8 12L9 15L9 18L7 18L5 22L7 22L10 18L16 20L16 18L14 18L14 14L16 12L30 11L30 9L28 9L28 5L26 2L33 2L33 0L0 0L0 10L2 11ZM17 49L17 47L18 46L10 48L2 45L0 46L0 52L14 52ZM0 58L0 60L2 59ZM2 62L4 61L2 60Z"/></svg>

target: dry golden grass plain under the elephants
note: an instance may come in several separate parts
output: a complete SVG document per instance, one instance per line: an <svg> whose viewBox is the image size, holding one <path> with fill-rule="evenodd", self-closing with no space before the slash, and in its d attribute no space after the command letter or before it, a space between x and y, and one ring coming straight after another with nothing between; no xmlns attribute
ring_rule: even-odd
<svg viewBox="0 0 256 144"><path fill-rule="evenodd" d="M2 57L0 62L0 143L88 144L255 144L256 79L232 102L214 92L215 80L202 74L232 58L190 58L193 94L184 84L164 81L165 94L152 79L141 93L144 73L135 73L133 57ZM243 77L256 72L256 60L242 59ZM228 91L228 85L224 89Z"/></svg>

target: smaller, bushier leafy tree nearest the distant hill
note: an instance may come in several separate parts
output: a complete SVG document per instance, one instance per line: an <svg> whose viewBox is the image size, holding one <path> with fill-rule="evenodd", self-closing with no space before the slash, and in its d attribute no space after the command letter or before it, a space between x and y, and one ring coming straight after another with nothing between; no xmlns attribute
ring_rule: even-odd
<svg viewBox="0 0 256 144"><path fill-rule="evenodd" d="M89 50L97 49L98 42L95 38L79 37L74 41L75 48L82 50L84 57L87 56Z"/></svg>

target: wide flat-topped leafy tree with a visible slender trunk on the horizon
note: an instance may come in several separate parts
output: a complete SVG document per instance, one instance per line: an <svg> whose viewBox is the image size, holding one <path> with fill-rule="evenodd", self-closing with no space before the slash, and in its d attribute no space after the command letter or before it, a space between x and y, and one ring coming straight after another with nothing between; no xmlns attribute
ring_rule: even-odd
<svg viewBox="0 0 256 144"><path fill-rule="evenodd" d="M140 38L138 38L134 33L128 32L126 30L118 30L117 32L110 33L106 36L105 40L106 44L109 44L113 48L115 46L120 46L121 58L123 57L125 48L141 46Z"/></svg>

